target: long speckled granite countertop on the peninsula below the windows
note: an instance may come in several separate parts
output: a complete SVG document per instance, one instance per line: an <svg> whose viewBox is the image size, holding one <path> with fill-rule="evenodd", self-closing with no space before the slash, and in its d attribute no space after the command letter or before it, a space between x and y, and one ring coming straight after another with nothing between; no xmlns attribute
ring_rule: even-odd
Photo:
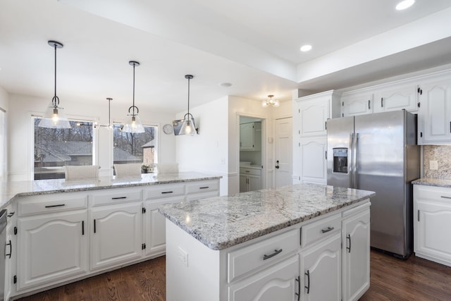
<svg viewBox="0 0 451 301"><path fill-rule="evenodd" d="M50 193L77 192L109 188L126 188L133 186L158 185L166 183L191 182L195 180L212 180L222 176L204 173L180 172L178 174L159 175L144 173L132 177L99 177L96 180L30 180L0 183L0 209L6 207L15 197L25 195L45 195Z"/></svg>

